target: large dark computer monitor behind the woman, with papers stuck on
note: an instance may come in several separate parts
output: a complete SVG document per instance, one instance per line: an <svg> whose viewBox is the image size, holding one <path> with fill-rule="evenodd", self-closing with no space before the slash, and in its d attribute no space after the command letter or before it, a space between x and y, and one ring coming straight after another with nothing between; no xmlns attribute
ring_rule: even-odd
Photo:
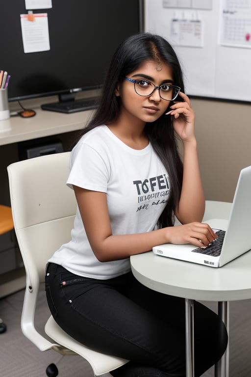
<svg viewBox="0 0 251 377"><path fill-rule="evenodd" d="M50 51L24 53L20 15L25 0L2 1L0 70L11 75L9 101L99 88L112 54L141 26L141 0L52 0L47 13ZM69 97L70 95L70 97Z"/></svg>

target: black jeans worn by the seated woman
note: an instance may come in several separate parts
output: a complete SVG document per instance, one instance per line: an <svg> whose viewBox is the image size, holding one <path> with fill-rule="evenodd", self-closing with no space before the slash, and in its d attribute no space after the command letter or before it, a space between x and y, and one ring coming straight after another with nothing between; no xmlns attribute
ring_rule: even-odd
<svg viewBox="0 0 251 377"><path fill-rule="evenodd" d="M183 298L152 291L131 272L98 280L55 264L47 269L46 293L51 314L69 335L130 360L111 372L114 377L185 377ZM194 318L195 376L201 376L223 355L227 333L217 314L199 302Z"/></svg>

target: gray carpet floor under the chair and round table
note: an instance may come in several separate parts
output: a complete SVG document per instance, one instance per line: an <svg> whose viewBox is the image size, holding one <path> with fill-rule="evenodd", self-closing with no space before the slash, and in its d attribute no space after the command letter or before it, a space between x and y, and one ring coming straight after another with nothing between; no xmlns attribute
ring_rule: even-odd
<svg viewBox="0 0 251 377"><path fill-rule="evenodd" d="M52 350L41 352L25 338L20 328L24 290L0 299L0 317L7 331L0 334L0 377L46 377L46 368L55 363L59 377L94 377L80 356L61 356ZM207 303L216 310L216 303ZM36 326L43 331L49 317L44 293L39 294ZM251 376L251 300L230 302L229 377ZM108 377L109 374L103 375ZM203 377L213 377L211 368Z"/></svg>

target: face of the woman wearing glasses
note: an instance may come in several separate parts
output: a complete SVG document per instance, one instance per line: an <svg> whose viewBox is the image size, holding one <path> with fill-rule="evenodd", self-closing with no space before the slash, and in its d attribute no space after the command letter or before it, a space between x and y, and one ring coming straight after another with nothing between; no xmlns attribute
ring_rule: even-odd
<svg viewBox="0 0 251 377"><path fill-rule="evenodd" d="M126 76L132 80L151 81L155 86L162 84L176 84L170 66L164 62L147 60L135 71ZM121 115L135 117L143 122L153 122L158 119L168 108L170 101L162 99L158 90L150 96L140 96L134 90L134 83L124 80L115 91L121 97ZM135 120L136 120L135 119Z"/></svg>

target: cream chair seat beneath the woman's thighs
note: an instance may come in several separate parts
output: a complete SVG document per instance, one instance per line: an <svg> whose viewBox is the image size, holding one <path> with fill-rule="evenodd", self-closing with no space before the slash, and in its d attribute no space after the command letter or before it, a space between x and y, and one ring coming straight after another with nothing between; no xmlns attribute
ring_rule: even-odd
<svg viewBox="0 0 251 377"><path fill-rule="evenodd" d="M51 339L53 339L53 341L58 343L58 345L73 350L78 355L84 357L91 364L96 376L117 369L128 362L126 359L96 352L81 343L76 342L58 326L52 316L50 316L45 325L45 332Z"/></svg>

